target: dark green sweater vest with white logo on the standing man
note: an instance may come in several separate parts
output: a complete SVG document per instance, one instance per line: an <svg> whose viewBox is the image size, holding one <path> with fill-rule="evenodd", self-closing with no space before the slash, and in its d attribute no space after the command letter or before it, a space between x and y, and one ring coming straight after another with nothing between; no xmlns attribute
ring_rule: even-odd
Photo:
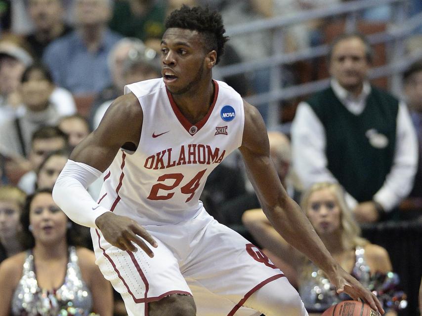
<svg viewBox="0 0 422 316"><path fill-rule="evenodd" d="M372 200L393 164L398 100L371 86L364 111L354 115L330 87L307 103L325 129L328 169L358 202Z"/></svg>

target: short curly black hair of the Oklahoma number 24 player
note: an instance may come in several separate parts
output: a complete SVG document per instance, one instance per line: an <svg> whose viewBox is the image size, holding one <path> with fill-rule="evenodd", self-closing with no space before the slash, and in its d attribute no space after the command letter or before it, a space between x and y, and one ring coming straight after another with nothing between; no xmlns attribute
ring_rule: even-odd
<svg viewBox="0 0 422 316"><path fill-rule="evenodd" d="M182 5L180 9L170 13L166 19L165 28L166 30L180 28L198 31L203 36L205 49L216 51L215 64L220 61L228 37L224 36L226 30L221 14L217 11L211 11L208 7L195 6L190 8L187 5Z"/></svg>

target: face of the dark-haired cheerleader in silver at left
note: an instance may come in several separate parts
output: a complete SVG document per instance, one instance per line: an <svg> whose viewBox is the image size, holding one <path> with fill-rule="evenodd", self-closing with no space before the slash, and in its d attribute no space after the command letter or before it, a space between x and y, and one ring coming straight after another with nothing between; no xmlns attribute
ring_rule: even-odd
<svg viewBox="0 0 422 316"><path fill-rule="evenodd" d="M50 193L39 193L31 202L29 221L36 243L56 243L66 238L67 217Z"/></svg>

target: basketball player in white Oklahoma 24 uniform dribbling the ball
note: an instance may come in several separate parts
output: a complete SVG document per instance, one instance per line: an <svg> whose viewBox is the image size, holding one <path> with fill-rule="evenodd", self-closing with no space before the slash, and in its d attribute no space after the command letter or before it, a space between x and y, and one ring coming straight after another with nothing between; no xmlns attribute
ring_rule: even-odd
<svg viewBox="0 0 422 316"><path fill-rule="evenodd" d="M198 200L211 170L239 148L277 231L338 291L383 312L375 295L333 260L286 194L256 108L212 80L224 32L216 12L173 11L161 42L163 78L125 87L75 148L56 182L55 201L92 228L97 264L129 316L307 315L283 273ZM85 188L104 171L95 202Z"/></svg>

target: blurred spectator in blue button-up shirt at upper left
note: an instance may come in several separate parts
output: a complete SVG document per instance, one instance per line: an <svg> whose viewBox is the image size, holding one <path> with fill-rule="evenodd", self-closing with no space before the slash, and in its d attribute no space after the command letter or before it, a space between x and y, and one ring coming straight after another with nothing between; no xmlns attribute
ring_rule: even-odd
<svg viewBox="0 0 422 316"><path fill-rule="evenodd" d="M75 31L52 41L42 57L54 82L76 96L99 93L111 83L107 56L120 35L110 31L111 0L75 0Z"/></svg>

